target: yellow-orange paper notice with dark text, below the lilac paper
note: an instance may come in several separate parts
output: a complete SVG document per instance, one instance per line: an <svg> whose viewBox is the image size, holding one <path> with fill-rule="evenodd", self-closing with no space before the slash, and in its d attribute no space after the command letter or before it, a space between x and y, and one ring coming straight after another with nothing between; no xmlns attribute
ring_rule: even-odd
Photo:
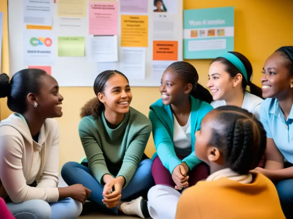
<svg viewBox="0 0 293 219"><path fill-rule="evenodd" d="M121 15L121 46L148 47L148 15Z"/></svg>

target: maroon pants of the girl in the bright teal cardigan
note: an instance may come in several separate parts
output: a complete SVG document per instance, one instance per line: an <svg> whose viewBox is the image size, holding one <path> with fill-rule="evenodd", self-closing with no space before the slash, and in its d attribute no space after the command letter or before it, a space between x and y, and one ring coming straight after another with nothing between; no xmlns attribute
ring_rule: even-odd
<svg viewBox="0 0 293 219"><path fill-rule="evenodd" d="M179 159L183 159L183 157L178 156ZM171 173L168 169L162 164L159 156L157 156L153 164L151 166L151 174L154 177L156 185L168 185L171 187L175 187L175 183L172 179ZM198 181L207 178L208 171L207 166L203 162L197 164L191 171L188 171L189 179L188 184L189 186L195 185Z"/></svg>

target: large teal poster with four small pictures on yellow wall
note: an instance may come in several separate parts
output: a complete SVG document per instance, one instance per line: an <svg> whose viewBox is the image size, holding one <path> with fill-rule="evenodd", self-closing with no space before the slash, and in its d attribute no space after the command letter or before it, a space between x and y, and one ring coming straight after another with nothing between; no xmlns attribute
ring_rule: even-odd
<svg viewBox="0 0 293 219"><path fill-rule="evenodd" d="M212 59L234 50L234 7L184 10L183 58Z"/></svg>

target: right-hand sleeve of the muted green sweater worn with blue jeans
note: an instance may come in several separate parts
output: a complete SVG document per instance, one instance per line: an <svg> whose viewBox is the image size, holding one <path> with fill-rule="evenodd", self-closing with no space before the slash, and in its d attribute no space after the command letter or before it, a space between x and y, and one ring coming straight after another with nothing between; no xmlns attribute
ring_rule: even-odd
<svg viewBox="0 0 293 219"><path fill-rule="evenodd" d="M125 151L122 166L116 176L123 176L125 178L124 188L128 185L137 170L137 166L142 159L149 136L151 135L151 123L149 120L148 122L149 124L137 133Z"/></svg>

